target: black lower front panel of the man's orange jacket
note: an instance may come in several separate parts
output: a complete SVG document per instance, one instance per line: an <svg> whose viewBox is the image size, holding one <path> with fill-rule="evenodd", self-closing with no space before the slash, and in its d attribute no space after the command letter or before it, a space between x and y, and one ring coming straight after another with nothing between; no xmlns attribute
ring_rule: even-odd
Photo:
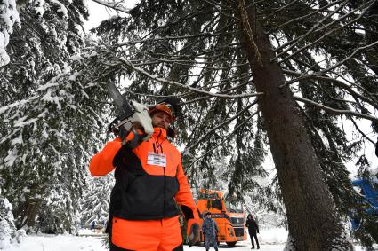
<svg viewBox="0 0 378 251"><path fill-rule="evenodd" d="M149 220L179 215L174 200L179 191L175 176L149 175L139 158L126 148L117 153L115 164L116 184L110 198L112 216Z"/></svg>

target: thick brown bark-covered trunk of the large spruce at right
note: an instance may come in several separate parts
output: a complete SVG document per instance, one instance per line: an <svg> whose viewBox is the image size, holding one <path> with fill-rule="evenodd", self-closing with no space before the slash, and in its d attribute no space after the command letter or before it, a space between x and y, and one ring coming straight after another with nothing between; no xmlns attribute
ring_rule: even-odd
<svg viewBox="0 0 378 251"><path fill-rule="evenodd" d="M302 114L291 90L279 87L285 78L277 62L270 61L275 53L269 37L256 22L253 9L245 12L244 1L239 0L239 4L253 83L258 92L264 93L259 97L259 106L276 164L294 250L348 250L350 243L344 237Z"/></svg>

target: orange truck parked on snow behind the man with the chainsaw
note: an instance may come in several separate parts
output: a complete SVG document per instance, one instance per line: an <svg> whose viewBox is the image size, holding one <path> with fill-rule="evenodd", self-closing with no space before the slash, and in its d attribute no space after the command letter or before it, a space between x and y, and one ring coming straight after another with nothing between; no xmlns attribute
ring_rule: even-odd
<svg viewBox="0 0 378 251"><path fill-rule="evenodd" d="M246 239L245 213L240 203L225 200L225 193L201 189L198 192L197 208L202 218L206 211L212 213L212 218L218 224L218 243L226 242L229 247L237 241ZM200 229L202 228L202 221ZM190 229L190 226L189 228ZM200 241L204 242L201 232Z"/></svg>

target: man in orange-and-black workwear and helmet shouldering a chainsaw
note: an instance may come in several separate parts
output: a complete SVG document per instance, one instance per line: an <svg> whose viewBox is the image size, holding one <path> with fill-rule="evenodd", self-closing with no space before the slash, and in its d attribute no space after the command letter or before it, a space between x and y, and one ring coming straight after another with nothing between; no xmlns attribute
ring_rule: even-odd
<svg viewBox="0 0 378 251"><path fill-rule="evenodd" d="M116 184L110 195L110 250L183 250L179 209L186 220L197 221L197 206L181 166L181 153L167 139L173 122L165 104L149 111L154 133L133 149L122 140L109 141L92 157L92 176L115 170ZM197 231L196 229L194 231ZM194 241L197 233L190 234ZM193 239L192 239L193 240Z"/></svg>

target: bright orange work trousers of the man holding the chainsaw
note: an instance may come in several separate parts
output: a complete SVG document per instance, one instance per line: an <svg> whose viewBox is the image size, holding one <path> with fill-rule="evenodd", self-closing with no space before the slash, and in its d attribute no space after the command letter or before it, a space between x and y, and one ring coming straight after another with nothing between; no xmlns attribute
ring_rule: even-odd
<svg viewBox="0 0 378 251"><path fill-rule="evenodd" d="M111 242L134 251L183 250L179 216L144 221L113 217Z"/></svg>

